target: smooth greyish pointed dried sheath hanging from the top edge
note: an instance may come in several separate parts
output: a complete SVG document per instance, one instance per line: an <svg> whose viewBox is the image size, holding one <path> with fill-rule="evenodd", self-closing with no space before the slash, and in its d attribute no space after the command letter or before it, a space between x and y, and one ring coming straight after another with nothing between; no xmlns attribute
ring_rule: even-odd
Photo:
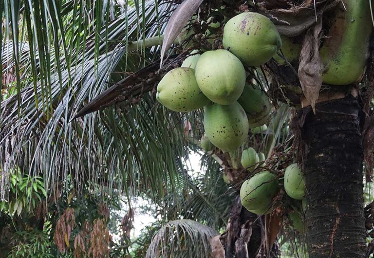
<svg viewBox="0 0 374 258"><path fill-rule="evenodd" d="M202 2L203 0L185 0L171 15L164 32L164 40L161 49L161 66L165 53L168 51L170 45L181 33L187 21L196 12Z"/></svg>

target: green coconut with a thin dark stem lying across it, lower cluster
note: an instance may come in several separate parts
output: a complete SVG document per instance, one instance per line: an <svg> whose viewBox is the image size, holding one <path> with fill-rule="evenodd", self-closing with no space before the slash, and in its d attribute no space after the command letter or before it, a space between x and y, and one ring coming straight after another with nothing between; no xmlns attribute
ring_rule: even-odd
<svg viewBox="0 0 374 258"><path fill-rule="evenodd" d="M269 171L263 171L244 181L240 188L240 199L248 211L263 214L269 210L277 192L278 179Z"/></svg>

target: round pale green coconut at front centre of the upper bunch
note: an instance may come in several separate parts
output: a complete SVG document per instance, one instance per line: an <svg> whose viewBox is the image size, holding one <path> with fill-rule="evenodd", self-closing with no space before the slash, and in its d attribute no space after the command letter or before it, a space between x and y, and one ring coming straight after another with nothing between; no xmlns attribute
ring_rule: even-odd
<svg viewBox="0 0 374 258"><path fill-rule="evenodd" d="M228 105L243 92L245 71L241 61L224 49L207 51L196 64L196 81L211 101Z"/></svg>

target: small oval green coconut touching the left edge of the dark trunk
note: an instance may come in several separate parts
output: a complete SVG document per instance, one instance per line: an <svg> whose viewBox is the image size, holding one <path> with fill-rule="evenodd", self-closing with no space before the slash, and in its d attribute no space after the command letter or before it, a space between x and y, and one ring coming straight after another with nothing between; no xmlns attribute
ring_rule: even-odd
<svg viewBox="0 0 374 258"><path fill-rule="evenodd" d="M284 189L289 197L301 200L305 195L305 184L299 166L294 163L284 172Z"/></svg>

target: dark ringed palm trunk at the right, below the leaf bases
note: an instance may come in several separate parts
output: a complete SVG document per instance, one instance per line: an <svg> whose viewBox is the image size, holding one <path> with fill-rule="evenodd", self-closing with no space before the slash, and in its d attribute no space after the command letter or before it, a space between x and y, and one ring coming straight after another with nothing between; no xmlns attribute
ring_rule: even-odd
<svg viewBox="0 0 374 258"><path fill-rule="evenodd" d="M304 108L300 120L309 258L365 256L361 107L349 95ZM305 120L304 120L305 119Z"/></svg>

